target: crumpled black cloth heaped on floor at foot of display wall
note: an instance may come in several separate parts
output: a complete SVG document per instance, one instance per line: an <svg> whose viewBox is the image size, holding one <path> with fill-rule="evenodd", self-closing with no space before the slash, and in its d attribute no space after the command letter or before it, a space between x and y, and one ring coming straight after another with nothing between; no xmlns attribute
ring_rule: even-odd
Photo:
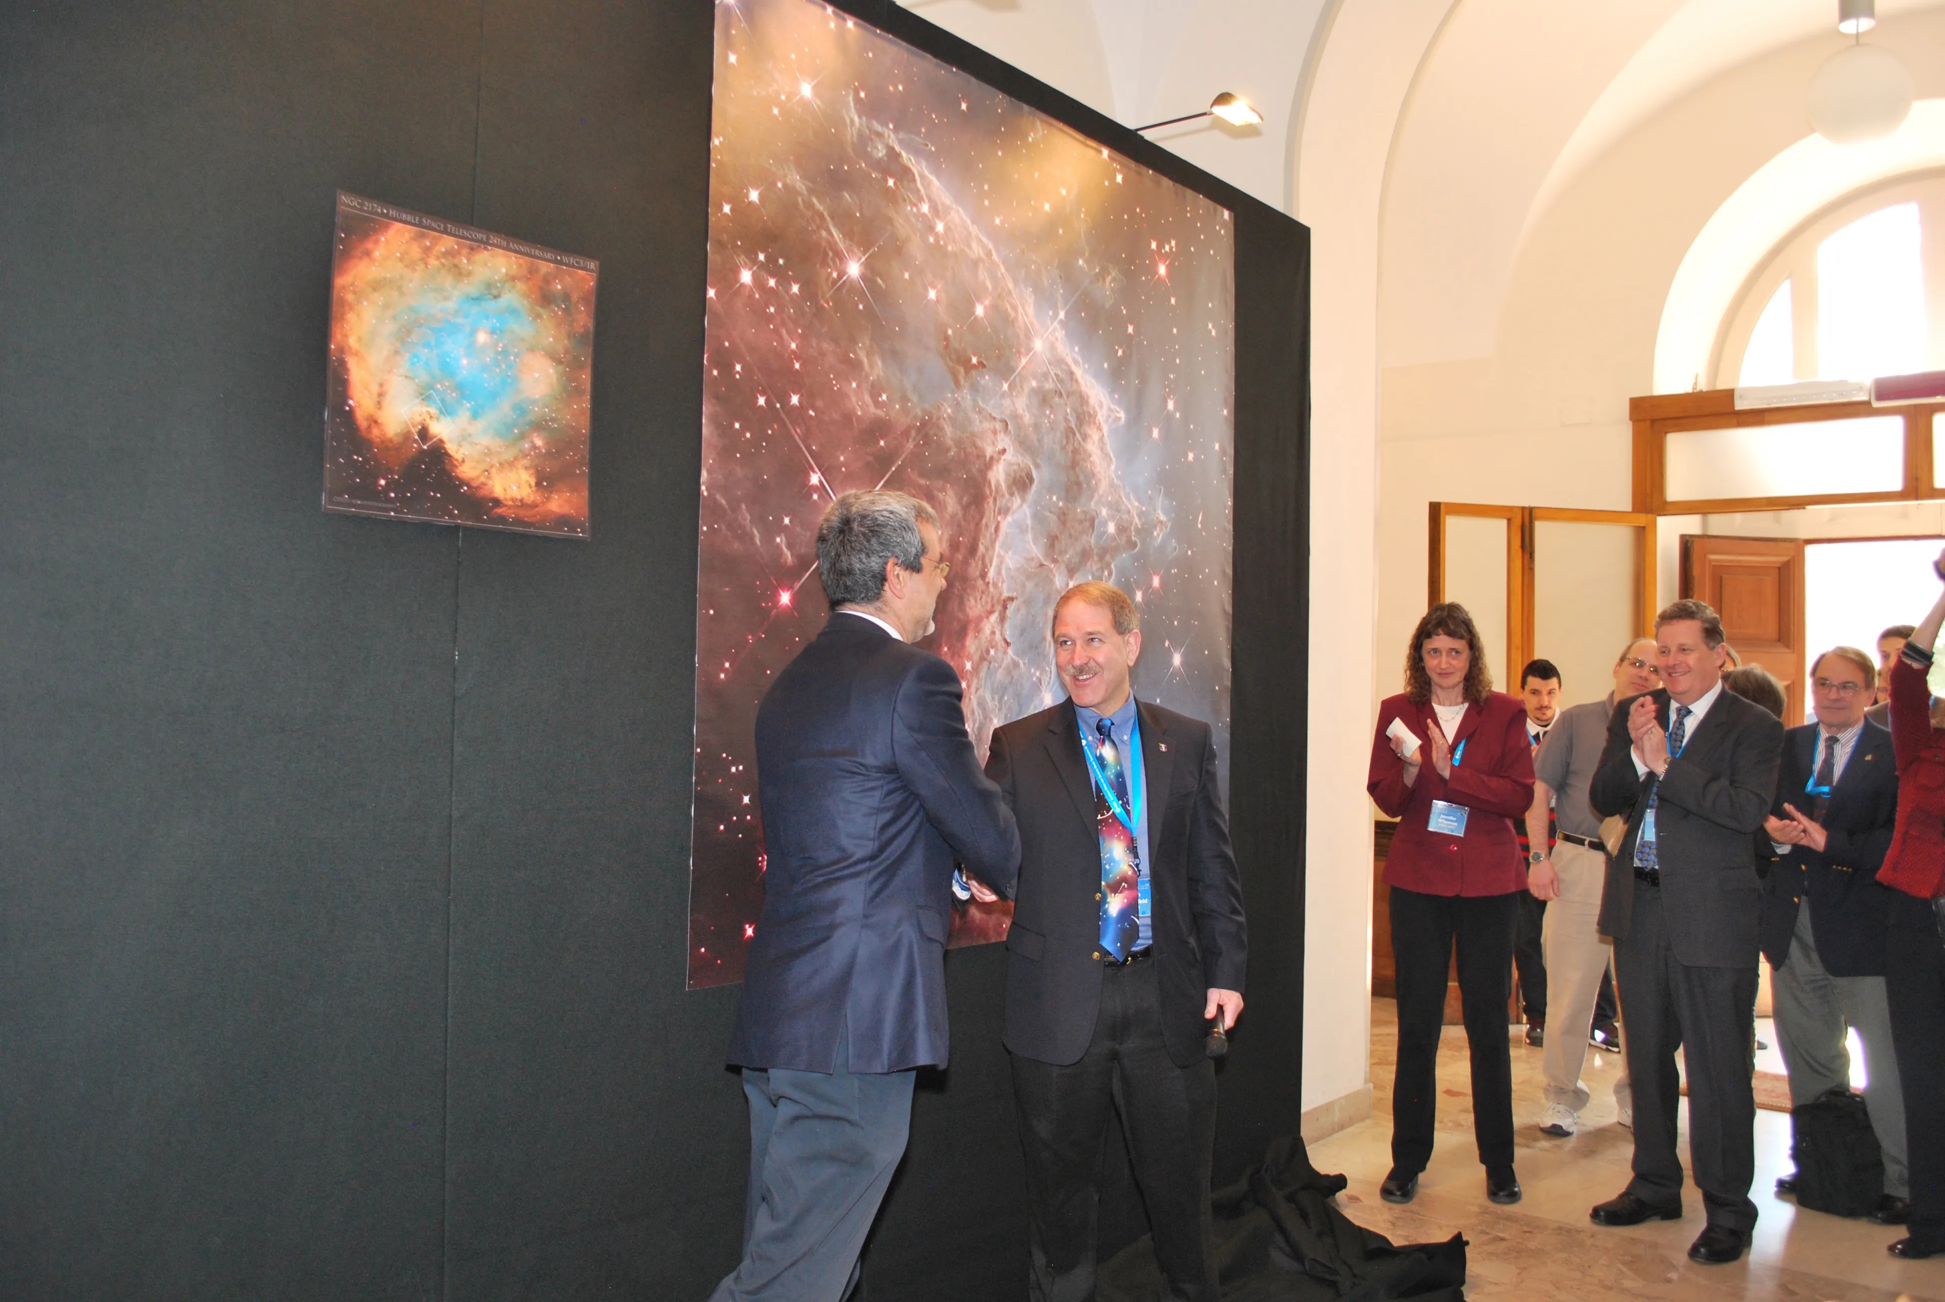
<svg viewBox="0 0 1945 1302"><path fill-rule="evenodd" d="M1332 1201L1342 1175L1311 1166L1286 1135L1262 1166L1210 1199L1223 1302L1465 1302L1465 1238L1393 1244L1354 1224ZM1101 1302L1142 1302L1161 1288L1142 1236L1101 1265Z"/></svg>

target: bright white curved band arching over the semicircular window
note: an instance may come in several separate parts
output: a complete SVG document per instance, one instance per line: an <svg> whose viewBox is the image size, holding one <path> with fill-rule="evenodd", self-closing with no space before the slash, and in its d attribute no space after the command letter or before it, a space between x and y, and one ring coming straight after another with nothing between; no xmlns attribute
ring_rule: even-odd
<svg viewBox="0 0 1945 1302"><path fill-rule="evenodd" d="M1945 99L1920 99L1883 140L1840 146L1805 136L1758 167L1675 271L1655 335L1655 393L1680 393L1710 372L1735 296L1797 224L1852 191L1927 167L1945 167Z"/></svg>

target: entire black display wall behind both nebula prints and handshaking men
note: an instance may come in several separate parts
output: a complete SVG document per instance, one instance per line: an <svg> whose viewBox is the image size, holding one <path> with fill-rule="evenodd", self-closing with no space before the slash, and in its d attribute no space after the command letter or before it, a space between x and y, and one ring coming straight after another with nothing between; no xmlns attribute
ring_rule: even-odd
<svg viewBox="0 0 1945 1302"><path fill-rule="evenodd" d="M1218 1177L1301 1080L1307 234L1237 212ZM683 991L712 8L0 8L0 1296L702 1298L737 991ZM333 193L601 261L587 543L319 510ZM998 950L866 1296L1023 1292ZM1111 1236L1140 1232L1116 1168Z"/></svg>

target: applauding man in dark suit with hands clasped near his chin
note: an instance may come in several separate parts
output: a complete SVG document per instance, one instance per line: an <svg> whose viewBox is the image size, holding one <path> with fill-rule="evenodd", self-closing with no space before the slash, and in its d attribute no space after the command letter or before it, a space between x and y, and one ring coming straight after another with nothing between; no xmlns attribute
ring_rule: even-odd
<svg viewBox="0 0 1945 1302"><path fill-rule="evenodd" d="M1723 691L1721 619L1704 601L1655 617L1663 689L1620 701L1589 792L1597 814L1628 815L1609 860L1601 934L1614 940L1634 1082L1634 1179L1593 1209L1595 1224L1682 1214L1675 1152L1688 1067L1688 1156L1708 1226L1688 1257L1735 1261L1756 1205L1754 1035L1760 884L1754 831L1776 794L1784 724Z"/></svg>

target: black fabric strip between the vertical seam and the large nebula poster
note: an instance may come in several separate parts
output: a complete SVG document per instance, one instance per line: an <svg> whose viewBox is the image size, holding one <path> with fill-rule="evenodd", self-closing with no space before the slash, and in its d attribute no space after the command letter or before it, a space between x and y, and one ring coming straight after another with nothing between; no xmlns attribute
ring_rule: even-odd
<svg viewBox="0 0 1945 1302"><path fill-rule="evenodd" d="M601 282L591 541L461 553L453 1298L700 1298L741 1246L737 991L683 991L712 33L486 6L473 222Z"/></svg>

